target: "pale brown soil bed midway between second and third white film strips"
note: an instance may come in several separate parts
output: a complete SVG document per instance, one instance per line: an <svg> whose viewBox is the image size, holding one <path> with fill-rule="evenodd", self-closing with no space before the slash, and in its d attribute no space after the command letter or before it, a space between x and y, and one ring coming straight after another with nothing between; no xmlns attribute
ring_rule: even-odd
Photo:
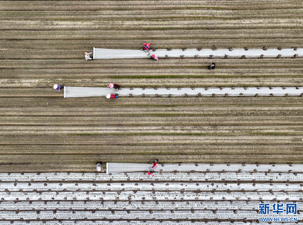
<svg viewBox="0 0 303 225"><path fill-rule="evenodd" d="M152 126L148 124L147 126L140 124L139 126L112 126L115 122L109 123L107 126L64 126L61 125L60 129L57 126L2 126L2 135L13 135L13 134L86 134L86 135L96 135L96 134L195 134L195 135L302 135L303 127L302 125L161 125Z"/></svg>

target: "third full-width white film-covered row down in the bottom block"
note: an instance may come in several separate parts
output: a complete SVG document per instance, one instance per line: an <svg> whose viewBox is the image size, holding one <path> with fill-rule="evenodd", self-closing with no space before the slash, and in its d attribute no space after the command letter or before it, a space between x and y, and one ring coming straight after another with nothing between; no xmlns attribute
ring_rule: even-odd
<svg viewBox="0 0 303 225"><path fill-rule="evenodd" d="M58 194L55 191L48 191L42 193L36 192L11 192L7 194L5 192L0 192L0 197L4 198L2 201L298 201L302 198L302 193L298 192L203 192L195 194L195 192L186 192L184 191L181 194L180 191L170 191L170 192L161 192L161 194L152 191L88 191L87 192L59 192ZM244 192L244 191L243 191ZM75 195L75 193L77 193ZM119 199L116 199L119 197ZM65 199L66 198L66 199ZM88 198L88 199L87 199ZM144 198L144 199L142 199ZM64 199L64 200L62 200Z"/></svg>

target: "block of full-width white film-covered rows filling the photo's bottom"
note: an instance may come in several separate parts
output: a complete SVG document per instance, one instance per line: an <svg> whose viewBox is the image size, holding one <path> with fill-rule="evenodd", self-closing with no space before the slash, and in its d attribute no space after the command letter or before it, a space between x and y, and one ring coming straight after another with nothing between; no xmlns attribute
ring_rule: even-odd
<svg viewBox="0 0 303 225"><path fill-rule="evenodd" d="M302 223L300 166L284 165L283 172L266 165L281 171L266 173L260 165L239 165L251 166L258 171L158 172L156 179L142 172L1 173L1 223L265 225L258 223L259 204L277 201L296 202L292 217Z"/></svg>

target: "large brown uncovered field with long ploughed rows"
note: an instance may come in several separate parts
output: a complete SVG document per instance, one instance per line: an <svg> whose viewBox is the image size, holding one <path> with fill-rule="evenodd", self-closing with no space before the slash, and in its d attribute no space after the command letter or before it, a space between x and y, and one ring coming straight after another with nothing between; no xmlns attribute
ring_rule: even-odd
<svg viewBox="0 0 303 225"><path fill-rule="evenodd" d="M96 48L303 48L301 0L0 1L0 172L97 161L301 164L302 97L63 98L106 87L303 86L303 58L88 60ZM206 67L216 63L215 70ZM111 203L112 204L112 203Z"/></svg>

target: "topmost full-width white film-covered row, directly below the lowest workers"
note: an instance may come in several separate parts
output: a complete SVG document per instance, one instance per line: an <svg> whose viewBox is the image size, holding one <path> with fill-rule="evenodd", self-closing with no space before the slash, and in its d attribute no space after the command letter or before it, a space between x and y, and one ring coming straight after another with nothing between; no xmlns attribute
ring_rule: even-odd
<svg viewBox="0 0 303 225"><path fill-rule="evenodd" d="M181 164L180 164L181 166ZM268 165L269 166L269 165ZM279 165L277 167L275 166L275 169L279 168ZM291 169L294 169L293 167ZM199 169L198 169L199 170ZM235 170L237 171L237 170ZM292 170L294 171L294 170ZM83 174L83 175L82 175ZM99 182L112 182L112 181L140 181L140 182L146 182L146 181L155 181L155 182L164 182L164 181L186 181L186 182L210 182L210 181L221 181L221 182L243 182L243 181L249 181L249 182L265 182L265 183L271 183L271 182L301 182L303 180L303 174L297 173L296 175L293 173L285 173L285 172L226 172L226 171L220 171L220 172L204 172L204 173L198 173L198 172L191 172L183 173L183 172L175 172L175 173L157 173L156 178L151 178L147 176L146 173L116 173L112 175L105 176L104 174L98 174L95 173L43 173L40 175L37 175L36 173L26 173L26 174L19 174L19 173L10 173L5 174L2 173L1 175L1 182L2 184L7 182L15 182L14 185L17 188L21 188L27 183L31 182L44 182L47 180L48 182L58 182L58 181L64 181L64 182L71 182L72 183L78 183L78 182L91 182L91 183L99 183ZM25 182L25 184L23 183ZM78 185L78 184L77 184ZM203 185L203 184L201 184Z"/></svg>

